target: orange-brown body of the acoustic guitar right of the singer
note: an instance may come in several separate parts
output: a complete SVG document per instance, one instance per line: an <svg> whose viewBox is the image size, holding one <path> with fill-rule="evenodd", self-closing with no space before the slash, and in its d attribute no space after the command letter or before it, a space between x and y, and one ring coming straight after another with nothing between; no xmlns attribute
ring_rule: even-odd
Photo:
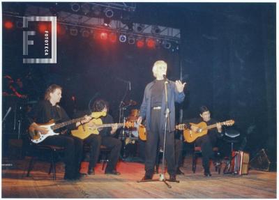
<svg viewBox="0 0 279 200"><path fill-rule="evenodd" d="M204 134L207 134L207 130L206 130L207 125L204 121L202 121L201 123L198 123L198 124L190 123L190 125L197 126L199 128L199 130L201 130L201 131L194 132L193 130L188 130L188 129L183 130L184 139L188 143L191 143L191 142L195 141L198 137L202 137Z"/></svg>

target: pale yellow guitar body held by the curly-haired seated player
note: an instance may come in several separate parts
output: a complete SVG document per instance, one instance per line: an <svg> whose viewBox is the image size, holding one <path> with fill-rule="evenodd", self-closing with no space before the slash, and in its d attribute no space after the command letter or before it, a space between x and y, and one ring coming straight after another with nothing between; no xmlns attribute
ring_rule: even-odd
<svg viewBox="0 0 279 200"><path fill-rule="evenodd" d="M103 121L100 118L93 118L89 123L86 123L84 125L79 125L79 127L76 130L72 130L71 133L73 136L78 137L80 139L86 139L86 137L89 137L90 134L99 134L98 129L91 129L90 127L92 125L101 125L103 124Z"/></svg>

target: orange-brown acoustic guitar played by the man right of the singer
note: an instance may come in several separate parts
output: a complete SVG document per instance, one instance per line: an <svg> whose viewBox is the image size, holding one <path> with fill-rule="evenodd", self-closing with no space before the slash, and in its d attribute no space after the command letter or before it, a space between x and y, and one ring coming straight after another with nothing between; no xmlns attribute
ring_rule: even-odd
<svg viewBox="0 0 279 200"><path fill-rule="evenodd" d="M233 125L234 124L234 120L228 120L228 121L223 121L220 123L221 125ZM212 124L212 125L206 125L206 123L204 121L202 121L201 123L190 123L190 125L195 125L197 126L197 131L193 131L190 130L188 128L186 128L186 124L179 124L176 125L175 128L178 130L183 130L183 136L185 141L187 141L188 143L191 143L193 141L195 141L198 137L202 137L204 134L207 134L207 131L212 129L212 128L216 128L217 123Z"/></svg>

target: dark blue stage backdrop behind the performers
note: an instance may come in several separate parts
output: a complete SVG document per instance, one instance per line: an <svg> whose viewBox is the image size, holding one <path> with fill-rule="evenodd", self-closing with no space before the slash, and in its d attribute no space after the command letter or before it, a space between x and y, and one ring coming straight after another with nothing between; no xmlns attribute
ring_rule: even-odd
<svg viewBox="0 0 279 200"><path fill-rule="evenodd" d="M31 73L27 85L34 96L42 96L49 84L61 84L61 103L69 114L72 95L78 109L105 98L117 121L128 86L120 79L131 82L126 100L138 104L130 109L139 108L144 86L153 79L151 67L163 59L169 79L179 79L181 67L187 82L183 118L197 116L206 105L213 118L236 121L233 128L247 140L247 151L266 148L276 157L276 3L137 3L133 20L181 29L179 51L66 34L58 38L56 65L23 65L22 30L3 29L3 75Z"/></svg>

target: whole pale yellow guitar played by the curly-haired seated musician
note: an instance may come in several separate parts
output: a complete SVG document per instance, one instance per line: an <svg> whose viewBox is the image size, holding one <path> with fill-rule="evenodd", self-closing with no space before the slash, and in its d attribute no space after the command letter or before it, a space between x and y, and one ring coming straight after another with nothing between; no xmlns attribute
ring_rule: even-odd
<svg viewBox="0 0 279 200"><path fill-rule="evenodd" d="M88 123L85 123L84 125L79 125L79 127L76 130L71 130L71 133L75 137L79 137L80 139L85 139L86 137L89 137L91 134L99 134L100 128L106 128L106 127L112 127L115 123L105 123L103 124L103 121L100 118L93 118ZM117 123L117 128L120 127L127 127L127 128L133 128L134 123L126 122L126 123Z"/></svg>

